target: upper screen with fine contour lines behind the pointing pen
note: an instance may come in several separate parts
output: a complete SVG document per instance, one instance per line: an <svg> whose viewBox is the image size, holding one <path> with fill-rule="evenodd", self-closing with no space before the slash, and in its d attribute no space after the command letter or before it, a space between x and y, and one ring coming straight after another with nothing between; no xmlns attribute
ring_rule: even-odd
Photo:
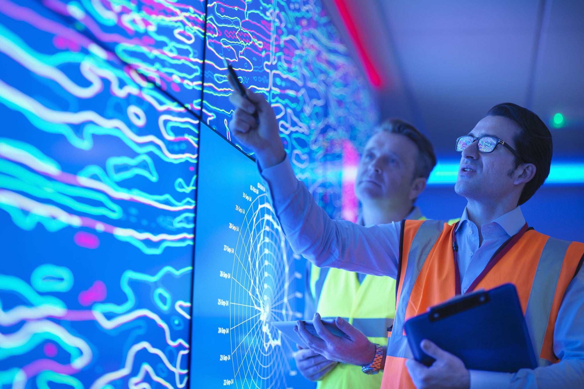
<svg viewBox="0 0 584 389"><path fill-rule="evenodd" d="M367 139L378 113L321 1L208 2L202 121L235 141L223 58L272 104L297 177L340 218L342 141Z"/></svg>

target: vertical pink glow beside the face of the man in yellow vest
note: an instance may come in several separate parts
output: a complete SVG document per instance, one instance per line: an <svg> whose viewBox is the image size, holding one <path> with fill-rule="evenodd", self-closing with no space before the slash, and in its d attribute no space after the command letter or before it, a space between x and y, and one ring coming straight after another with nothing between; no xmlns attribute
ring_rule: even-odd
<svg viewBox="0 0 584 389"><path fill-rule="evenodd" d="M344 220L356 222L359 216L359 200L355 195L355 181L359 169L359 153L350 141L343 141L343 164L341 175L341 216Z"/></svg>

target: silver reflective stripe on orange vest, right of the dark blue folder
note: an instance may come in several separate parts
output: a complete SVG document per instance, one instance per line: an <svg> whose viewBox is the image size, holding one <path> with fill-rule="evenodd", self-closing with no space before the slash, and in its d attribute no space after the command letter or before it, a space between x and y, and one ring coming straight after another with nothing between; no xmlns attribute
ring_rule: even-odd
<svg viewBox="0 0 584 389"><path fill-rule="evenodd" d="M554 303L555 289L558 286L559 273L562 270L564 257L572 242L549 238L541 251L537 264L536 275L531 285L529 301L525 311L527 328L531 335L533 349L537 358L541 355L545 332L550 321L551 306ZM540 366L550 365L545 359L539 359ZM543 362L545 361L545 362ZM542 365L547 363L547 365Z"/></svg>

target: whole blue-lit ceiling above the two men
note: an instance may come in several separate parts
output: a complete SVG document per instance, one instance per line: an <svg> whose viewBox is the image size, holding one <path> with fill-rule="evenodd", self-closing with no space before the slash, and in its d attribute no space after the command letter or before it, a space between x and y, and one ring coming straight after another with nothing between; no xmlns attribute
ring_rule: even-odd
<svg viewBox="0 0 584 389"><path fill-rule="evenodd" d="M511 101L549 125L555 156L584 157L584 137L569 141L584 129L584 1L346 2L392 78L378 91L383 115L411 120L439 155L457 157L453 139ZM551 125L557 112L564 128Z"/></svg>

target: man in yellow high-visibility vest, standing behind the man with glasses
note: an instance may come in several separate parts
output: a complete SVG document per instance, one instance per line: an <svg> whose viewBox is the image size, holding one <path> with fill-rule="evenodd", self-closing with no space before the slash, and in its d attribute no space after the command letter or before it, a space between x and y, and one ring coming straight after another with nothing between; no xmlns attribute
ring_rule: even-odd
<svg viewBox="0 0 584 389"><path fill-rule="evenodd" d="M386 120L363 150L355 194L361 203L358 223L386 224L403 219L423 220L414 201L426 187L436 155L432 143L412 125ZM335 268L318 268L307 262L304 317L317 311L322 317L343 317L370 342L385 349L387 328L393 323L395 279ZM379 295L385 299L378 299ZM363 352L368 352L368 347ZM319 389L371 388L381 385L382 374L363 374L361 366L339 364L310 348L295 353L298 371Z"/></svg>

